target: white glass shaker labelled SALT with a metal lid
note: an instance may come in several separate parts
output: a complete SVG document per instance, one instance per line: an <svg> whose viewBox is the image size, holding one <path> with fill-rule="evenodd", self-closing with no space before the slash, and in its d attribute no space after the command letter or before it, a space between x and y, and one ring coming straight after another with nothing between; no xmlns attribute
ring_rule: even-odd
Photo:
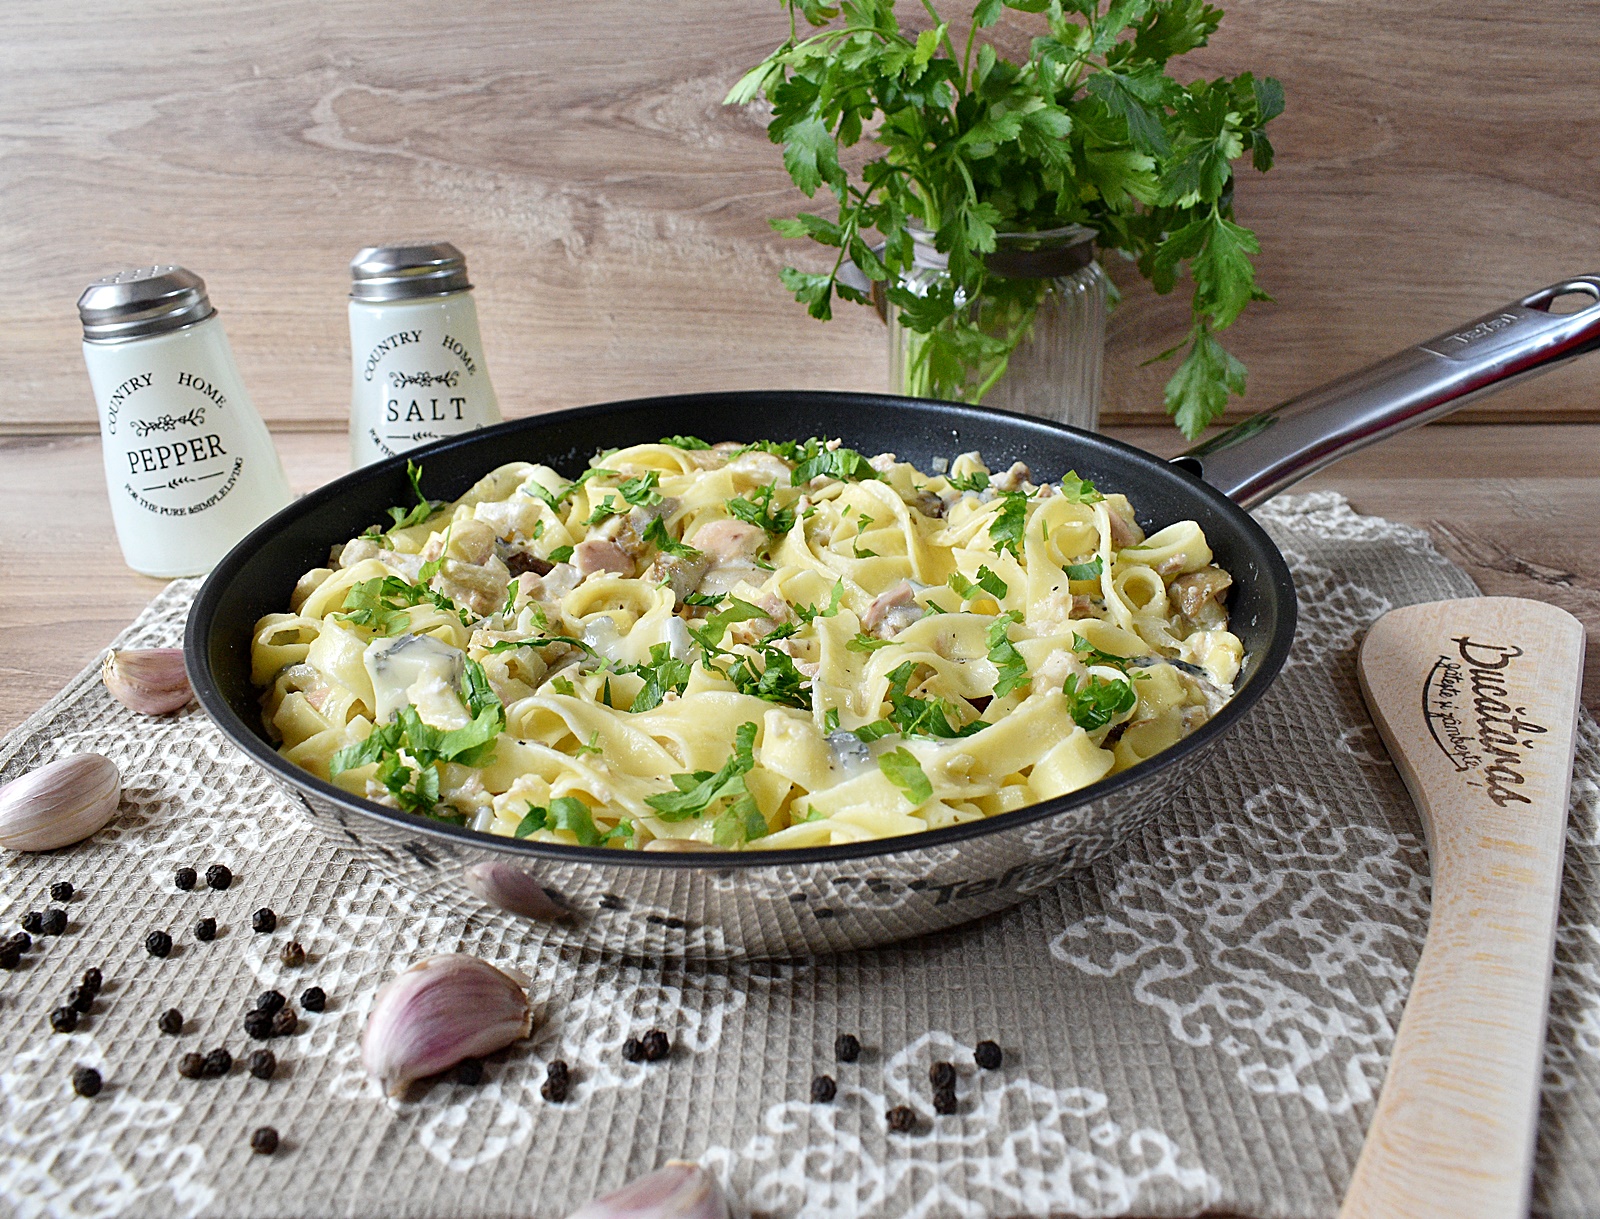
<svg viewBox="0 0 1600 1219"><path fill-rule="evenodd" d="M350 466L501 421L467 261L450 242L350 259Z"/></svg>

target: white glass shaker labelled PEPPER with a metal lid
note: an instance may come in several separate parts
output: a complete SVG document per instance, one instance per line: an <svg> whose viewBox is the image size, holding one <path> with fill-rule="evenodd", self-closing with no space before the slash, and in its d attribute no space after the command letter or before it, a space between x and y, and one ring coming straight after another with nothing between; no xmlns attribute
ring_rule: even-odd
<svg viewBox="0 0 1600 1219"><path fill-rule="evenodd" d="M123 270L78 298L110 517L146 576L198 576L290 502L205 280Z"/></svg>

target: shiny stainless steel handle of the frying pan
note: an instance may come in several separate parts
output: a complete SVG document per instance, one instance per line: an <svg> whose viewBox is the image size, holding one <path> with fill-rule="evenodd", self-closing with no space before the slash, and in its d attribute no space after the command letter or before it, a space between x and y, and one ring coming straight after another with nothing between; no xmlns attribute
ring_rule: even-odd
<svg viewBox="0 0 1600 1219"><path fill-rule="evenodd" d="M1589 304L1552 314L1581 294ZM1254 507L1358 448L1600 347L1600 275L1574 275L1370 368L1290 398L1173 458Z"/></svg>

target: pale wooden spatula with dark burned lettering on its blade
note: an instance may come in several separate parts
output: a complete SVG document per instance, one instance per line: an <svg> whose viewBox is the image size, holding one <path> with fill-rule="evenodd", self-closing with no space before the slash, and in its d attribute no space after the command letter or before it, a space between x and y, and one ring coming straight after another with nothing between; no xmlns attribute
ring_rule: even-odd
<svg viewBox="0 0 1600 1219"><path fill-rule="evenodd" d="M1515 597L1384 614L1362 691L1434 912L1341 1219L1526 1214L1584 630Z"/></svg>

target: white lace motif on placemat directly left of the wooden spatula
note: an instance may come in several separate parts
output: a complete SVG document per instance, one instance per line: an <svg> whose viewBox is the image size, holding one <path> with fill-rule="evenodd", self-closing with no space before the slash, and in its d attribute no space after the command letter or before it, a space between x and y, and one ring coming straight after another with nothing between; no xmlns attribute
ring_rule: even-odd
<svg viewBox="0 0 1600 1219"><path fill-rule="evenodd" d="M1422 845L1274 785L1163 848L1078 886L1099 909L1051 941L1056 960L1131 976L1173 1038L1235 1059L1253 1093L1370 1101L1427 926Z"/></svg>

